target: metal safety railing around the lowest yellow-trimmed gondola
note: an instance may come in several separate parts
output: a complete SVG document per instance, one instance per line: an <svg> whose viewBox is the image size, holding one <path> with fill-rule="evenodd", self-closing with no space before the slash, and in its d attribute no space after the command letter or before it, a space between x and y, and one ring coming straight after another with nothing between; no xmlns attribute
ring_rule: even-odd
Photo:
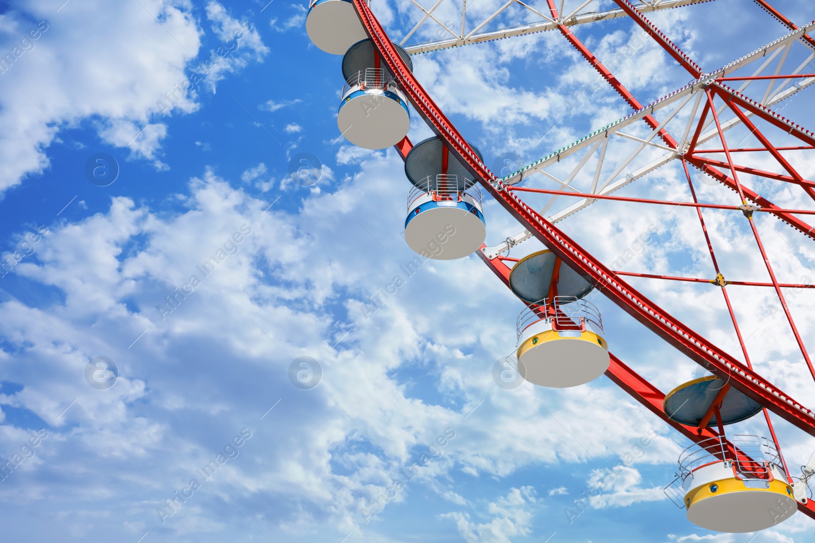
<svg viewBox="0 0 815 543"><path fill-rule="evenodd" d="M725 459L736 467L736 473L743 480L767 479L770 464L782 469L781 455L773 441L766 437L736 434L730 436L730 444L738 453L731 453L725 436L711 437L691 445L679 455L679 471L682 480L694 470L713 462Z"/></svg>

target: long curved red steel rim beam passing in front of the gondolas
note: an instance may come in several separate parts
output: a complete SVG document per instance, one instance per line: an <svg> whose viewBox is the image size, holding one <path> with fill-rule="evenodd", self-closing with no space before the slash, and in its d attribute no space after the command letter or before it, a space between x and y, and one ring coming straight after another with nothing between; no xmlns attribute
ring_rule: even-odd
<svg viewBox="0 0 815 543"><path fill-rule="evenodd" d="M425 92L416 77L407 69L407 65L395 50L385 30L373 15L364 0L353 0L372 45L385 60L389 71L399 81L408 99L416 111L427 121L430 128L446 143L461 164L465 165L474 178L489 192L513 217L526 229L544 243L555 256L565 261L572 269L592 282L611 301L629 313L637 321L659 335L691 360L711 370L721 379L728 379L731 386L737 388L751 399L766 406L789 423L800 427L808 434L815 436L815 413L800 402L792 400L778 390L760 374L744 366L736 358L711 344L671 317L651 300L647 299L628 282L623 281L600 261L584 251L574 240L541 217L532 208L524 204L487 167L482 164L473 149L461 136L455 126L447 120L443 112Z"/></svg>

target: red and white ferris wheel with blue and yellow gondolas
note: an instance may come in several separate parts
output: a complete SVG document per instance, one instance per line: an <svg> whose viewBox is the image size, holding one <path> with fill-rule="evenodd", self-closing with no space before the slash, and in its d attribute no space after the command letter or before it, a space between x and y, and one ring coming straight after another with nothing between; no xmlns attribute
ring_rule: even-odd
<svg viewBox="0 0 815 543"><path fill-rule="evenodd" d="M473 15L468 19L467 0L436 0L430 7L411 2L418 10L416 24L400 43L391 41L364 0L315 0L306 19L315 46L344 55L346 86L337 113L341 134L359 147L393 146L405 162L412 186L407 195L407 245L436 260L478 254L526 304L518 317L515 345L523 379L535 386L566 388L606 374L693 441L679 458L676 480L665 487L690 522L720 532L754 532L796 511L815 519L815 504L807 493L808 479L815 473L813 460L800 475L794 474L773 429L773 417L782 418L815 436L815 412L753 369L755 353L751 358L733 288L729 289L773 292L788 337L800 353L800 364L815 379L807 342L788 303L791 292L815 285L810 284L812 279L780 282L768 243L756 227L756 217L772 216L795 230L798 243L815 239L815 205L810 201L815 200L815 181L804 174L806 160L811 160L815 150L815 134L779 114L792 97L815 83L815 40L808 36L815 21L798 26L768 2L755 0L785 28L784 35L720 68L703 69L648 15L683 7L694 11L691 19L703 17L706 7L694 4L705 0L614 0L616 7L605 11L598 11L597 0L538 2L545 9L508 0L478 20ZM436 15L443 2L447 7L452 2L460 23L457 17L453 24ZM512 9L531 14L533 20L504 24L503 15ZM653 103L640 103L572 32L582 24L618 18L628 18L641 27L688 73L689 83ZM423 24L438 27L438 39L405 45ZM451 47L542 31L562 34L628 104L631 113L517 171L498 176L484 164L482 151L462 137L416 80L411 55L443 55L441 51ZM432 129L433 138L415 144L407 138L408 104ZM650 174L666 166L678 172L676 179L689 198L667 199L664 191L647 183ZM533 177L535 173L539 175ZM760 194L776 195L779 186L789 193L782 204ZM495 240L487 229L485 195L519 224L518 234L496 245L488 245ZM524 201L533 196L548 200L543 206ZM558 226L577 213L590 214L593 206L612 203L689 208L715 275L694 278L617 269L627 260L602 261L595 256L594 247L577 243ZM760 262L769 280L730 277L738 270L725 269L721 259L717 260L710 217L725 212L728 221L740 221L751 245L749 258ZM531 238L539 240L545 250L520 259L508 256L512 247ZM632 287L630 278L707 283L720 290L740 352L726 353ZM601 312L589 300L591 293L606 296L710 375L676 383L667 394L660 391L615 357L615 340L606 337ZM764 418L767 436L732 432L728 436L725 427L754 416Z"/></svg>

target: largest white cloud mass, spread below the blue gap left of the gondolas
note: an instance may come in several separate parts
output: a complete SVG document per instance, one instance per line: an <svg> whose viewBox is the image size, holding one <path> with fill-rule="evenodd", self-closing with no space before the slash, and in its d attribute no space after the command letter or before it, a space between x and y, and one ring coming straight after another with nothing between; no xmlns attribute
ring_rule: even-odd
<svg viewBox="0 0 815 543"><path fill-rule="evenodd" d="M182 212L148 215L149 208L138 208L130 199L119 197L112 200L106 213L54 226L37 247L36 259L21 261L15 273L62 293L64 301L41 307L55 328L36 309L14 300L0 302L0 334L26 353L25 358L20 358L20 353L0 358L8 379L30 383L26 372L39 364L46 365L42 367L53 379L27 385L8 402L55 421L65 405L78 396L77 405L59 419L60 424L74 428L72 439L93 442L105 454L120 454L130 447L143 455L144 462L150 459L149 468L142 464L134 467L150 474L152 483L140 491L143 506L137 508L139 515L150 519L171 490L186 484L187 464L174 456L178 454L174 446L163 440L129 402L143 409L180 449L193 451L194 464L205 462L209 453L200 437L193 427L174 422L174 414L195 413L205 420L218 414L219 424L224 426L218 431L234 431L245 424L239 414L257 410L254 416L259 417L280 399L262 392L271 379L268 382L279 383L281 391L289 391L267 417L270 422L278 420L271 418L284 413L277 409L284 405L294 409L306 398L291 395L302 391L294 390L284 374L290 361L308 354L319 359L326 376L324 383L311 391L326 402L319 404L323 405L318 408L319 417L307 427L280 418L284 426L275 426L277 433L258 431L258 440L251 442L258 449L245 449L240 462L246 463L236 462L234 475L214 480L211 488L263 499L284 493L287 500L308 508L333 511L328 513L331 522L347 528L343 536L363 523L359 507L368 488L387 488L399 476L401 466L416 460L416 449L434 443L447 427L461 437L450 440L444 457L425 468L404 496L416 492L418 485L432 484L453 503L465 499L444 482L444 474L451 473L454 466L474 475L501 476L532 463L586 458L588 453L575 436L586 443L601 444L593 448L592 455L627 447L624 436L617 436L618 431L626 433L621 421L625 421L623 426L641 427L647 414L628 406L613 406L615 396L608 391L587 387L545 400L552 402L548 409L558 419L593 421L573 428L572 436L553 418L541 414L531 387L509 393L496 388L488 372L471 371L475 357L465 354L472 342L470 334L481 336L483 344L500 352L507 347L511 336L508 323L513 321L513 307L506 303L509 298L504 287L474 259L444 266L425 264L420 273L409 278L405 290L390 297L384 309L371 318L364 317L363 304L368 304L377 286L388 284L394 273L400 273L399 266L415 256L400 235L406 187L381 182L399 166L397 160L392 151L374 154L372 160L361 164L362 173L343 183L337 192L312 193L304 199L299 214L283 211L286 200L297 193L285 192L280 202L269 208L271 199L253 199L207 170L202 177L192 179L186 195L180 195ZM259 164L247 171L253 169L259 171ZM302 189L291 185L289 190ZM371 199L381 204L371 208ZM196 266L224 247L242 224L251 226L252 234L238 244L236 254L226 257L209 276L200 276ZM392 252L375 248L379 243L392 247ZM331 258L329 265L324 264L326 256ZM174 289L188 284L192 274L202 284L186 297L177 298L178 308L167 314L170 306L165 297L176 296ZM427 289L435 292L446 310L419 310L426 307L426 300L416 295ZM465 331L447 311L460 318L472 313L474 300L466 296L472 289L481 293L479 304L500 308L496 310L501 314L494 315L490 323L466 321ZM348 317L341 329L335 329L323 316L324 308L334 303L337 290L353 293L344 302ZM160 312L157 306L165 307L165 311ZM433 332L423 336L428 331ZM68 344L66 336L77 348ZM127 349L136 338L138 342ZM41 347L26 351L28 344ZM334 344L336 348L332 348ZM175 367L177 349L184 351L185 360L196 360L208 368L183 389L177 386L178 375L159 370L165 365ZM123 353L117 354L117 363L121 374L128 377L121 388L117 383L111 389L119 396L89 394L81 369L97 353ZM440 390L460 395L464 405L450 409L406 396L406 385L390 372L415 357L426 359L438 374ZM224 358L231 361L228 368L222 366ZM16 363L24 359L31 364ZM15 363L10 364L10 360ZM237 392L229 388L232 392L224 390L227 396L213 396L212 391L221 387L218 383L234 379L229 375L234 375L236 368L258 379L240 379ZM133 385L128 384L131 379ZM134 388L135 383L143 384ZM267 401L258 403L257 398ZM341 409L328 398L337 401ZM464 421L463 414L485 398L484 405ZM99 429L95 409L106 409L114 426ZM518 413L526 415L519 418ZM360 426L367 433L360 431ZM608 427L615 427L615 432L602 431ZM290 437L283 445L278 435ZM378 449L359 451L359 445L368 439L375 440L386 453ZM473 442L479 447L472 447ZM72 458L73 453L64 447L68 445L55 449L61 451L59 457ZM261 450L262 461L258 457ZM59 457L48 461L59 465ZM257 462L262 462L262 467ZM342 475L335 470L336 462L347 466ZM81 488L114 484L108 477L118 475L99 477ZM518 488L487 508L489 519L460 520L482 541L504 541L500 534L511 536L531 529L530 511L535 503L533 489ZM402 506L394 503L388 507ZM126 518L133 521L139 515L130 511ZM179 511L171 529L179 533L192 529L189 523L196 515L195 507ZM285 522L298 526L297 518L289 516ZM283 522L282 517L279 519Z"/></svg>

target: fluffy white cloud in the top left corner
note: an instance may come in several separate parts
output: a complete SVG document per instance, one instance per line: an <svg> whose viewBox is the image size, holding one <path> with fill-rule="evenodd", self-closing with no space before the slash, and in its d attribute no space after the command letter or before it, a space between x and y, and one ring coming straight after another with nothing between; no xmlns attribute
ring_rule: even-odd
<svg viewBox="0 0 815 543"><path fill-rule="evenodd" d="M161 24L145 16L145 9ZM72 2L56 13L49 2L28 2L24 16L10 11L10 26L29 31L46 21L35 48L0 77L0 191L47 168L52 142L81 147L77 128L99 118L99 135L126 146L156 113L156 102L185 81L184 68L197 54L200 36L188 6L152 0L106 11L93 2ZM93 32L84 23L98 20ZM134 47L133 36L140 36ZM0 50L8 42L2 42ZM184 99L180 110L192 111ZM164 136L161 123L130 144L137 156L155 160ZM131 130L132 129L132 130Z"/></svg>

